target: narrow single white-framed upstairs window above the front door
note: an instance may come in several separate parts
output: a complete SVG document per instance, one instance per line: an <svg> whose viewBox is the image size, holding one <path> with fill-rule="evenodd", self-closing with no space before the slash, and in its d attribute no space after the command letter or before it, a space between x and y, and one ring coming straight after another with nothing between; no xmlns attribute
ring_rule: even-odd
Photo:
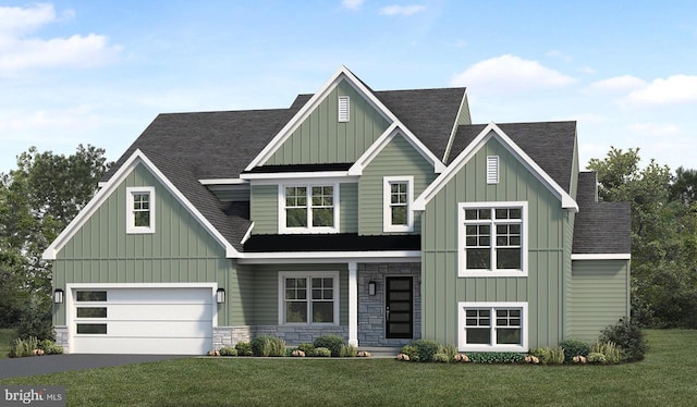
<svg viewBox="0 0 697 407"><path fill-rule="evenodd" d="M412 232L414 230L413 176L386 176L383 178L382 229L384 232Z"/></svg>

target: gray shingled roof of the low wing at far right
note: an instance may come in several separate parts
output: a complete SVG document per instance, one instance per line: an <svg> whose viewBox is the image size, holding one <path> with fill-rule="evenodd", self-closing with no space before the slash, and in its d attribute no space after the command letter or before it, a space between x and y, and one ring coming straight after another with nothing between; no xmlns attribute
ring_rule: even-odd
<svg viewBox="0 0 697 407"><path fill-rule="evenodd" d="M598 202L596 173L578 174L578 213L574 226L575 255L632 252L629 202Z"/></svg>

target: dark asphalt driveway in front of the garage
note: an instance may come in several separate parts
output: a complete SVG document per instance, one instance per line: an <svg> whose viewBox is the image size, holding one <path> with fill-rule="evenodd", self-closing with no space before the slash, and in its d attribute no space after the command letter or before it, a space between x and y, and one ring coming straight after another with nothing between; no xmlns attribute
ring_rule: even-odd
<svg viewBox="0 0 697 407"><path fill-rule="evenodd" d="M0 359L0 379L187 358L183 355L48 355Z"/></svg>

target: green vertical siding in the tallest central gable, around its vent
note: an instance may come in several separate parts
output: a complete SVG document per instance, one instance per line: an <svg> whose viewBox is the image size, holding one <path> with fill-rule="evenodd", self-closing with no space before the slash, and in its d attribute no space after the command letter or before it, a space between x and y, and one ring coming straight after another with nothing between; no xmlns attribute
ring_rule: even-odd
<svg viewBox="0 0 697 407"><path fill-rule="evenodd" d="M339 122L339 96L350 98L348 122ZM389 125L366 98L342 81L264 164L355 162Z"/></svg>

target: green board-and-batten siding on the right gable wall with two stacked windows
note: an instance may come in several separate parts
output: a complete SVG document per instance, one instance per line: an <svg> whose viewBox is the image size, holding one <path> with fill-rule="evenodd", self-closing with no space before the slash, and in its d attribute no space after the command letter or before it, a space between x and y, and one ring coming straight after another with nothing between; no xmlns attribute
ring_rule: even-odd
<svg viewBox="0 0 697 407"><path fill-rule="evenodd" d="M487 156L500 158L500 183L486 182ZM458 202L528 202L528 276L457 276ZM564 325L561 202L498 140L490 139L427 205L423 218L423 336L457 343L458 301L527 301L528 341L557 344Z"/></svg>

